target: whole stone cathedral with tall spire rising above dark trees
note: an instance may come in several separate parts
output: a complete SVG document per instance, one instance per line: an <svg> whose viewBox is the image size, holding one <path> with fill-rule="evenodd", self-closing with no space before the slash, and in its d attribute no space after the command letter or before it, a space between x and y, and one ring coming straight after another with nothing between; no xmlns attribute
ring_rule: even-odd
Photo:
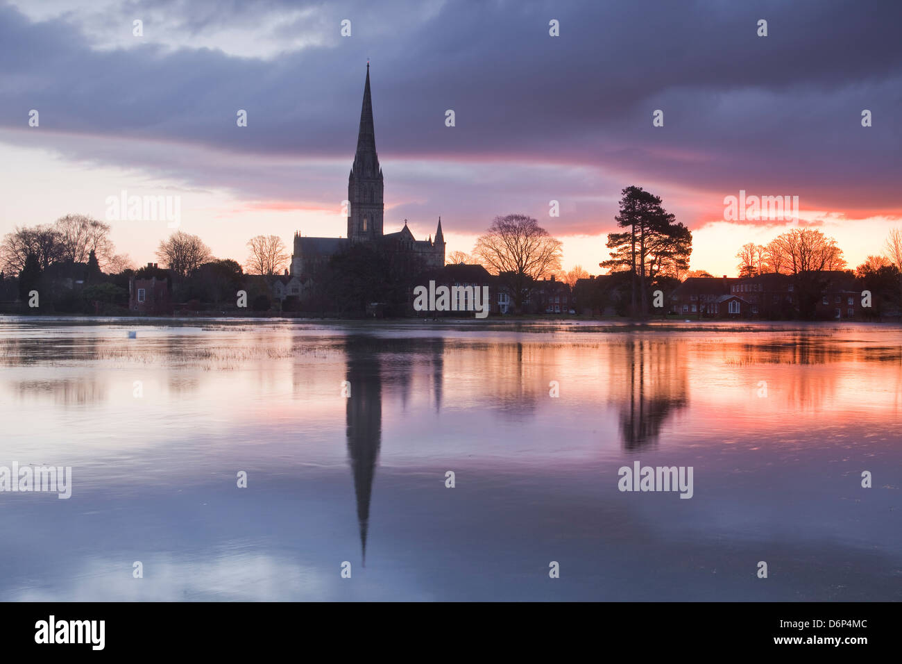
<svg viewBox="0 0 902 664"><path fill-rule="evenodd" d="M370 64L366 64L364 106L360 111L360 130L357 133L357 153L347 182L346 238L308 238L294 234L294 253L291 255L291 276L306 282L318 266L329 257L353 244L370 243L380 251L392 251L419 257L425 269L445 265L445 238L442 220L438 218L436 238L415 239L404 220L404 228L394 233L382 230L384 203L382 202L382 168L376 154L376 135L373 127L373 99L370 97Z"/></svg>

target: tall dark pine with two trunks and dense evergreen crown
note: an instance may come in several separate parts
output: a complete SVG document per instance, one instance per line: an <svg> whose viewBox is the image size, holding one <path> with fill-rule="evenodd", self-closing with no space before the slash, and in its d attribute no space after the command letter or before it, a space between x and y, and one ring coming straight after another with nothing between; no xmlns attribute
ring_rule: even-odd
<svg viewBox="0 0 902 664"><path fill-rule="evenodd" d="M611 258L599 266L612 273L630 273L632 313L637 311L638 290L644 315L649 311L649 283L657 276L677 277L688 269L692 233L664 210L660 197L635 186L621 193L620 210L614 219L621 229L629 230L608 234Z"/></svg>

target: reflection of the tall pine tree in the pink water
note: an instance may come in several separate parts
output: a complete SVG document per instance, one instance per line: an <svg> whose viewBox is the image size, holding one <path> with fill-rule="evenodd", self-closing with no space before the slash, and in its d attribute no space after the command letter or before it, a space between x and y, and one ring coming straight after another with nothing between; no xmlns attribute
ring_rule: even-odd
<svg viewBox="0 0 902 664"><path fill-rule="evenodd" d="M612 349L615 384L611 394L621 403L623 447L638 450L658 441L667 418L688 404L686 343L633 339Z"/></svg>

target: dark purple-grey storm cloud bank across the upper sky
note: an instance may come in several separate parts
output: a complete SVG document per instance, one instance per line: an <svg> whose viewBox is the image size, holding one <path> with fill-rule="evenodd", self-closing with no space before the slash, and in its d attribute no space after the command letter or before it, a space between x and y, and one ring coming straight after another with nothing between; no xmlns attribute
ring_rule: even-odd
<svg viewBox="0 0 902 664"><path fill-rule="evenodd" d="M206 34L270 20L281 5L154 6L188 33ZM740 189L798 195L816 209L902 207L902 3L459 2L434 14L412 3L283 6L311 14L272 23L272 34L326 31L323 43L267 59L193 49L190 40L178 50L149 40L99 51L77 14L32 23L0 6L0 126L22 127L38 108L49 132L166 141L170 171L204 185L216 182L202 164L180 161L179 145L234 154L235 171L254 155L345 159L349 167L371 57L383 163L582 164L618 183L593 192L599 180L589 178L559 187L566 191L557 197L616 198L629 183L669 187L703 192L692 203L698 215L719 216L723 196ZM143 7L124 5L125 29ZM351 38L338 34L344 18ZM551 18L560 37L548 36ZM760 18L769 22L766 38L756 35ZM248 111L246 129L235 127L238 108ZM453 128L444 124L449 108ZM657 108L664 127L651 126ZM874 117L867 129L863 108ZM90 143L79 149L90 153ZM140 151L94 156L147 165ZM290 199L299 192L295 176L286 169L259 188L254 177L220 184ZM500 176L497 184L483 196L513 199L543 182ZM608 215L610 205L600 210Z"/></svg>

